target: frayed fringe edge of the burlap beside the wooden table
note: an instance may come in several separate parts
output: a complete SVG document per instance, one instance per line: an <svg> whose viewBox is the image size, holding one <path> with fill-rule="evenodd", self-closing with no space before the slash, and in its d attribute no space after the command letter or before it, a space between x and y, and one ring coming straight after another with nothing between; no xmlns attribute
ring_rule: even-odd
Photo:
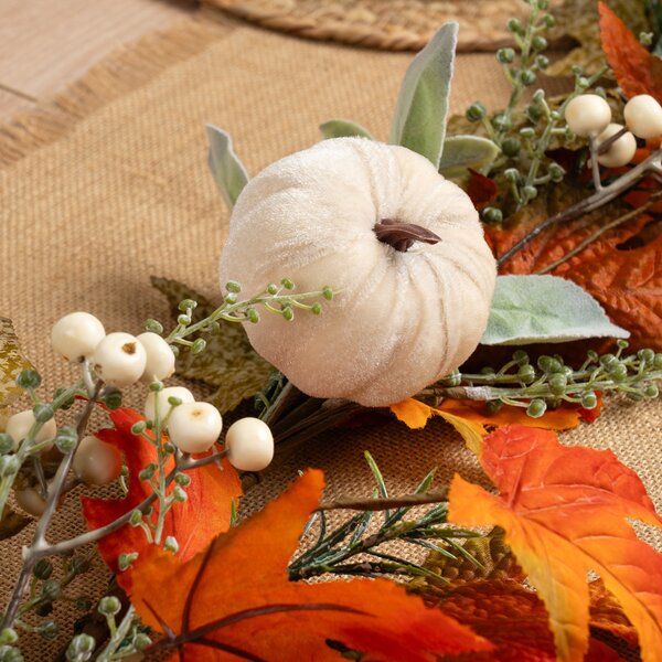
<svg viewBox="0 0 662 662"><path fill-rule="evenodd" d="M95 110L202 53L223 34L223 23L206 13L120 46L52 99L0 122L0 168L65 137Z"/></svg>

